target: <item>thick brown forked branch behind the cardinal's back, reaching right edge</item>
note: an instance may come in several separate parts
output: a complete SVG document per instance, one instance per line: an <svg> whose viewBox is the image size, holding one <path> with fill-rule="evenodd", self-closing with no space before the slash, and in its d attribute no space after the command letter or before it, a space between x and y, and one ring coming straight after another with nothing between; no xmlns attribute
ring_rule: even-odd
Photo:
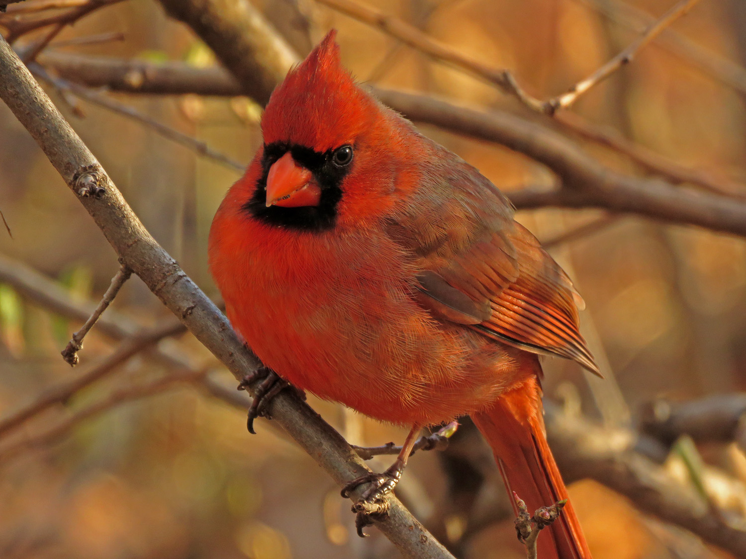
<svg viewBox="0 0 746 559"><path fill-rule="evenodd" d="M542 162L562 179L559 190L510 192L509 198L518 208L598 207L746 235L746 202L741 200L618 174L559 133L509 113L485 113L436 98L384 89L375 91L381 101L413 121L498 142Z"/></svg>

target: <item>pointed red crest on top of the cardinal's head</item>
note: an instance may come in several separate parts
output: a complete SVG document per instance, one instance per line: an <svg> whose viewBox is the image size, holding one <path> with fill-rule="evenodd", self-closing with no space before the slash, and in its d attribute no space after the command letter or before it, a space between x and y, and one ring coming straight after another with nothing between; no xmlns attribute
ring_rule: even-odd
<svg viewBox="0 0 746 559"><path fill-rule="evenodd" d="M288 142L323 153L369 127L377 104L342 66L335 37L329 31L272 92L262 118L265 144Z"/></svg>

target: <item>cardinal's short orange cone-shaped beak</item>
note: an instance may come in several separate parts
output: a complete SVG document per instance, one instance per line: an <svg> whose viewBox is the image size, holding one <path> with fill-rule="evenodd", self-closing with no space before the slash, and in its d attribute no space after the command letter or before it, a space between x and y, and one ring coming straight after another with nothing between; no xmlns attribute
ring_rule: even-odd
<svg viewBox="0 0 746 559"><path fill-rule="evenodd" d="M267 175L267 207L318 206L322 190L313 174L301 167L287 152L269 168Z"/></svg>

